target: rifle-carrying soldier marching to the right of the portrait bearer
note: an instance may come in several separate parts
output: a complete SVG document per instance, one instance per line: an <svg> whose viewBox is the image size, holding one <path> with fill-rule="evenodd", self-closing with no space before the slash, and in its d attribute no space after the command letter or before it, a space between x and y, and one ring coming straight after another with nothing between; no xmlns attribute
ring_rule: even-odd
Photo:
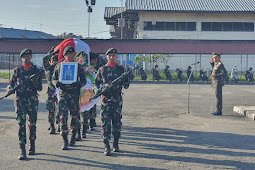
<svg viewBox="0 0 255 170"><path fill-rule="evenodd" d="M98 92L101 84L107 84L121 76L125 72L125 68L117 64L118 54L115 48L110 48L106 52L108 63L102 66L96 75L94 92ZM125 89L129 87L129 79L120 82L118 86L114 87L111 92L102 95L101 104L101 120L102 120L102 137L105 145L104 154L109 156L111 154L109 140L111 138L111 122L112 134L114 137L113 151L119 151L119 138L121 130L121 110L122 110L122 94L121 90L124 86Z"/></svg>

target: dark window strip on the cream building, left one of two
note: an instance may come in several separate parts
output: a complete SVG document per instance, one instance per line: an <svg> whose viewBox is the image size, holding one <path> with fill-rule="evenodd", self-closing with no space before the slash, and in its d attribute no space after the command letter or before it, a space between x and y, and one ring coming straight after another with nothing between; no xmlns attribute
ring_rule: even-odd
<svg viewBox="0 0 255 170"><path fill-rule="evenodd" d="M144 30L156 31L196 31L196 22L144 22Z"/></svg>

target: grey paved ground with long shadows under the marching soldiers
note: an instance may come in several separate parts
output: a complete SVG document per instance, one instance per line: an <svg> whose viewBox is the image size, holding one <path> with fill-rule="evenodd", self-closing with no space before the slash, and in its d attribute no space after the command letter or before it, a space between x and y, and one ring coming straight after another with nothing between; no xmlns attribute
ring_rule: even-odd
<svg viewBox="0 0 255 170"><path fill-rule="evenodd" d="M0 81L1 96L5 87ZM0 169L254 169L255 124L232 112L234 105L254 105L254 89L226 85L223 116L211 116L215 100L209 84L191 85L190 114L186 84L131 84L124 90L122 151L106 157L100 127L70 150L61 150L61 136L48 134L44 88L37 154L27 161L17 160L18 125L10 96L0 101Z"/></svg>

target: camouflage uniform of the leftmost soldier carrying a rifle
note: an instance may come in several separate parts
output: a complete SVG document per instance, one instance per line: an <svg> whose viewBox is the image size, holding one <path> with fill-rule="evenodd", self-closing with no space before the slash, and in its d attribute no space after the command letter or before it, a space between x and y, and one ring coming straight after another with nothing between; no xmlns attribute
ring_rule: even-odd
<svg viewBox="0 0 255 170"><path fill-rule="evenodd" d="M39 69L36 65L31 63L31 66L26 71L24 66L18 66L14 69L14 74L11 77L8 90L14 88L17 84L22 84L25 79L31 75L38 73ZM26 117L28 115L28 127L29 127L29 139L30 142L36 140L36 121L37 121L37 109L38 109L38 93L42 90L42 80L39 77L36 84L32 82L22 85L20 89L16 91L15 99L15 112L16 119L19 124L19 143L26 144Z"/></svg>

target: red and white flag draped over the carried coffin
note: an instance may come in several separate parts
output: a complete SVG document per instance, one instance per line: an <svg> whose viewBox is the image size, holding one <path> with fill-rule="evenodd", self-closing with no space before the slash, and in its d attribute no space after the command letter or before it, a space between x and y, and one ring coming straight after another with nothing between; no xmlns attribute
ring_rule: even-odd
<svg viewBox="0 0 255 170"><path fill-rule="evenodd" d="M88 65L90 65L90 57L89 57L90 47L87 43L85 43L84 41L78 38L65 39L54 48L54 51L56 51L60 47L60 50L58 53L58 60L62 59L64 50L67 46L72 46L75 49L76 53L80 51L84 51L88 55Z"/></svg>

